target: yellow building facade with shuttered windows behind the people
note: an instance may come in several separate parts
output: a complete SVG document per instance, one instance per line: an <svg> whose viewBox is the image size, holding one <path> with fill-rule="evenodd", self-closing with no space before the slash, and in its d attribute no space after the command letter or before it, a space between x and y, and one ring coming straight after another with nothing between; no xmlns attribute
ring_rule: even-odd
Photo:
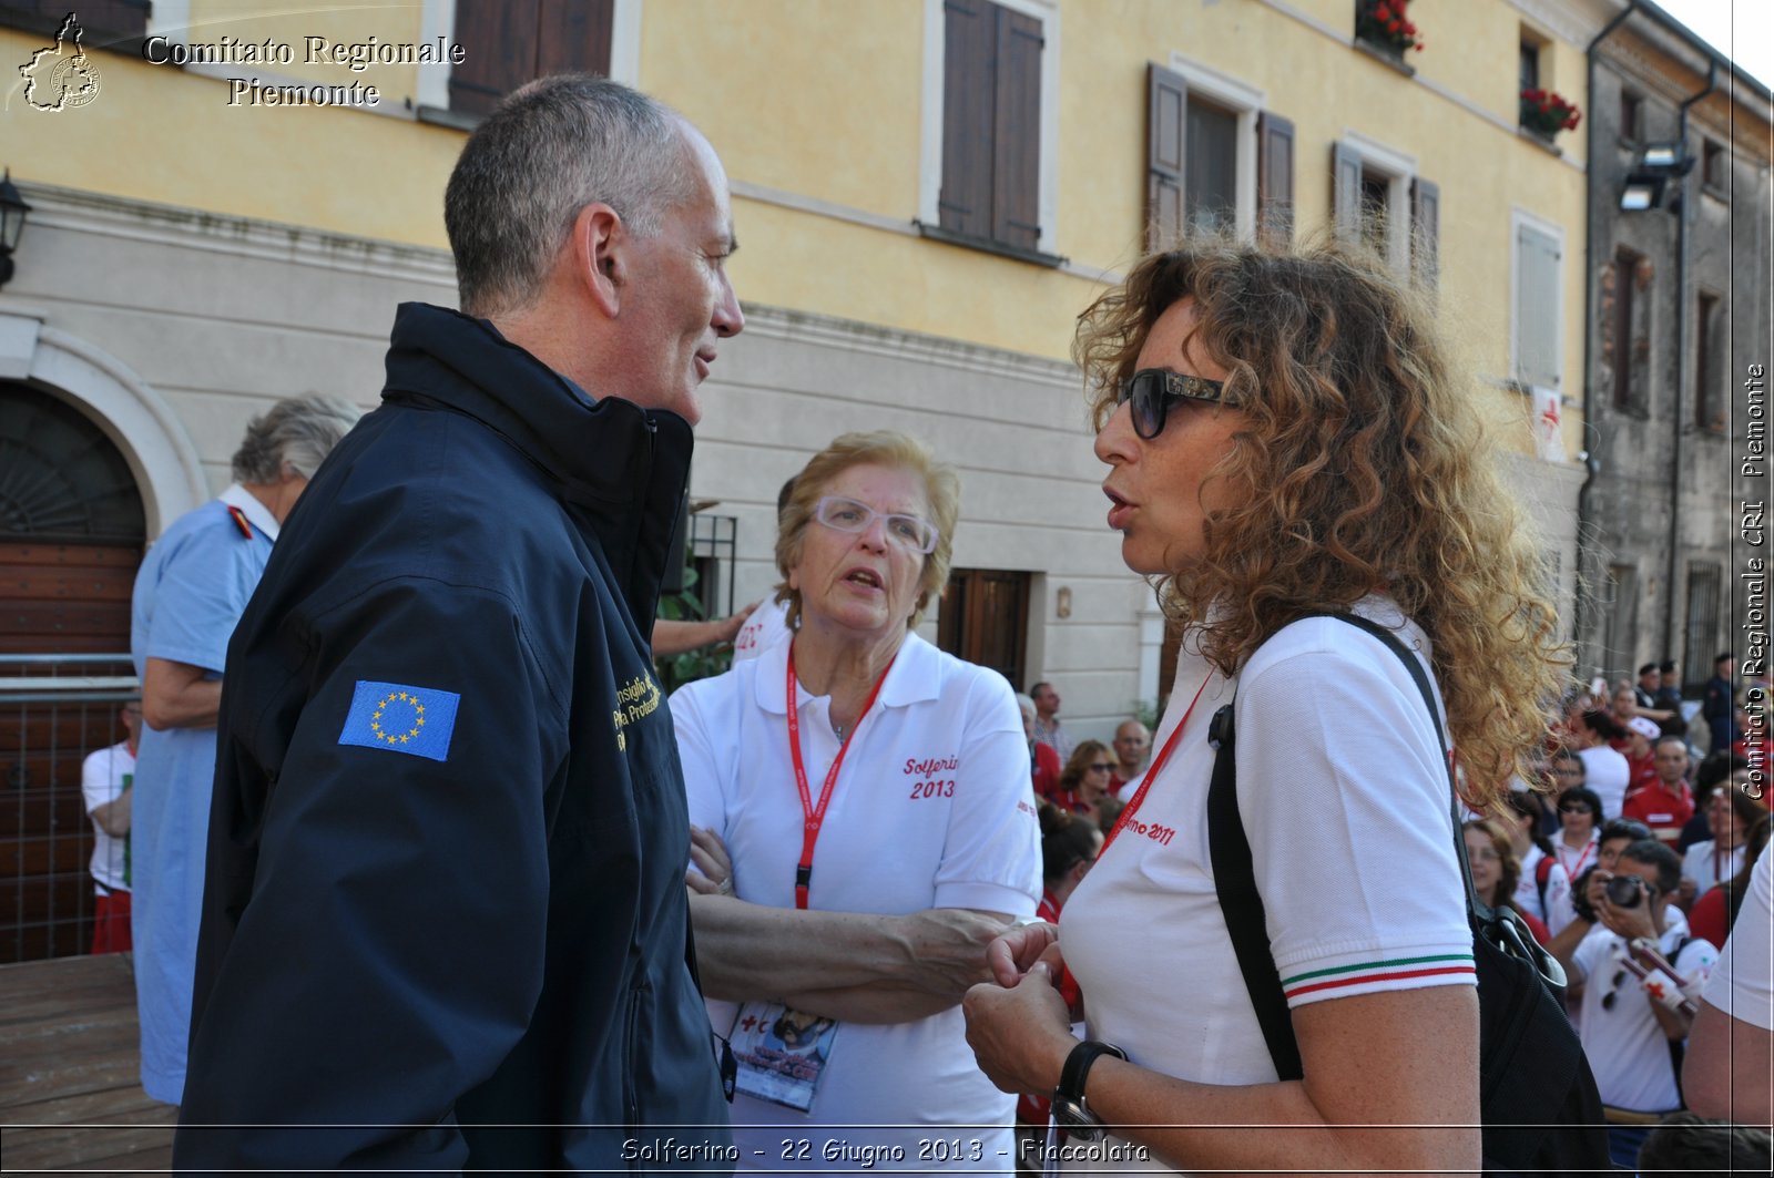
<svg viewBox="0 0 1774 1178"><path fill-rule="evenodd" d="M1618 0L1416 0L1401 53L1355 0L126 7L76 7L71 44L0 0L0 165L34 206L0 392L114 444L145 538L225 483L268 399L374 401L394 303L454 302L442 192L475 105L566 64L685 112L733 179L749 328L692 497L731 522L704 555L736 600L775 582L775 491L807 454L908 429L965 488L931 635L1061 683L1080 734L1150 704L1162 617L1103 525L1068 348L1153 218L1364 234L1433 280L1570 594L1584 137L1526 131L1520 92L1586 108Z"/></svg>

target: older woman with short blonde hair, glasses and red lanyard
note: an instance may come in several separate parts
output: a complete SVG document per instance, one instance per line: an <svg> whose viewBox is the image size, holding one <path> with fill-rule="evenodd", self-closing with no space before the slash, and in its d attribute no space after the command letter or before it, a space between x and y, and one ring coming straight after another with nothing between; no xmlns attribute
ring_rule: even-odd
<svg viewBox="0 0 1774 1178"><path fill-rule="evenodd" d="M742 1169L1004 1169L1013 1150L1015 1100L958 1004L1041 898L1029 750L1009 683L914 633L958 499L912 438L832 442L781 513L791 640L671 699ZM977 1128L915 1128L937 1125Z"/></svg>

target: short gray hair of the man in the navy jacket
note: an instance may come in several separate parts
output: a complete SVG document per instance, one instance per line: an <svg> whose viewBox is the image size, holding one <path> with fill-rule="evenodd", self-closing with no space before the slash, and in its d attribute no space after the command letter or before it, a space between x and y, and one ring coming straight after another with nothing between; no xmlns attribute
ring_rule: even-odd
<svg viewBox="0 0 1774 1178"><path fill-rule="evenodd" d="M695 192L681 115L619 82L553 75L514 90L468 137L444 192L461 309L536 302L578 211L608 204L640 238Z"/></svg>

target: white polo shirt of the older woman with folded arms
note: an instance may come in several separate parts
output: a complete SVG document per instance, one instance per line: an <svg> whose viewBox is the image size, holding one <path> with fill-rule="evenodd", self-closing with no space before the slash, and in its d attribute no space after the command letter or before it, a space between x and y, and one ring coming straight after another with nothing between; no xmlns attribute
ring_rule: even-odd
<svg viewBox="0 0 1774 1178"><path fill-rule="evenodd" d="M777 908L795 907L802 844L784 694L789 648L777 642L671 697L690 821L727 844L740 899ZM797 688L797 706L816 805L839 740L828 695ZM983 908L1029 919L1040 898L1029 749L1009 683L908 633L844 754L812 855L809 905L882 915ZM726 1034L738 1006L710 1001L708 1009L715 1031ZM811 1112L740 1095L733 1132L742 1167L805 1171L832 1167L821 1141L899 1144L905 1166L915 1167L917 1143L931 1137L930 1130L864 1127L1002 1127L963 1135L990 1143L981 1166L1009 1169L1009 1155L997 1150L1009 1148L1013 1112L1015 1096L979 1072L954 1006L915 1022L843 1024ZM811 1157L784 1160L784 1137L812 1139ZM944 1169L970 1169L969 1160L944 1160Z"/></svg>

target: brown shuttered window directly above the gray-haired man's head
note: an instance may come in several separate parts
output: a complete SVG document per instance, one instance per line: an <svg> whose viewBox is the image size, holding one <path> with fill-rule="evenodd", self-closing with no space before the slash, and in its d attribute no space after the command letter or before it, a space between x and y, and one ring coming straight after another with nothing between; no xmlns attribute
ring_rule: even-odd
<svg viewBox="0 0 1774 1178"><path fill-rule="evenodd" d="M616 0L456 0L452 39L472 46L449 76L449 108L481 117L525 82L562 71L608 76Z"/></svg>

